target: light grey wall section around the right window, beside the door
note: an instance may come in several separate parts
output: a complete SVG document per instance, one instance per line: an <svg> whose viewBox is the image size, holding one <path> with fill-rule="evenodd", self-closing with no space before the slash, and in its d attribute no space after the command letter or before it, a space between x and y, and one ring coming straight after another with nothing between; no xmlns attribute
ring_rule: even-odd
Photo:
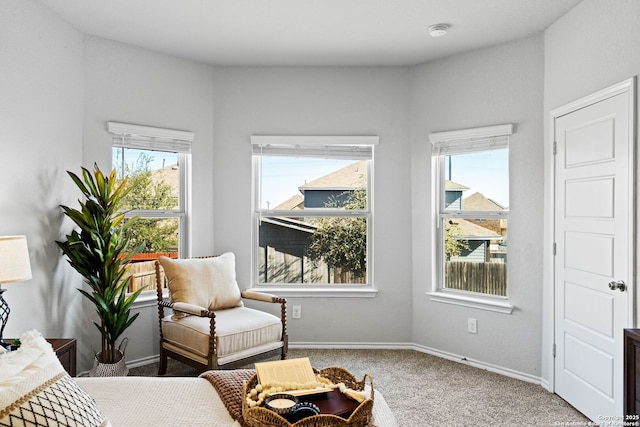
<svg viewBox="0 0 640 427"><path fill-rule="evenodd" d="M457 55L413 71L413 342L532 378L540 375L544 72L542 35ZM430 301L431 132L513 123L509 299L513 314ZM467 332L467 318L478 333Z"/></svg>

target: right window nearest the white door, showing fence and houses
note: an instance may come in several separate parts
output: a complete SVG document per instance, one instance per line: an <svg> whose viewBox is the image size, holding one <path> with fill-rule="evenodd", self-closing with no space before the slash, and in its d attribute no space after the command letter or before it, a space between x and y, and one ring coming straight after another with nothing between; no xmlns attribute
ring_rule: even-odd
<svg viewBox="0 0 640 427"><path fill-rule="evenodd" d="M508 297L512 125L431 134L437 215L436 291Z"/></svg>

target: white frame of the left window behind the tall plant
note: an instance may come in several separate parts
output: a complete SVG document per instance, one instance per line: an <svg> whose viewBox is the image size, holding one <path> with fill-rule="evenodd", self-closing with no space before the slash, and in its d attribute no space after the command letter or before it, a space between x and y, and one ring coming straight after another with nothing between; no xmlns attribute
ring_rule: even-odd
<svg viewBox="0 0 640 427"><path fill-rule="evenodd" d="M177 209L131 209L125 212L125 218L176 218L178 220L178 257L188 258L190 254L190 193L189 181L191 173L192 132L173 129L139 126L126 123L108 122L107 130L112 134L111 163L113 165L113 149L137 149L175 153L178 156L178 208ZM123 153L124 154L124 153ZM123 156L124 158L124 156ZM164 291L167 294L167 291ZM136 299L136 306L144 305L147 300L155 300L155 287L141 292Z"/></svg>

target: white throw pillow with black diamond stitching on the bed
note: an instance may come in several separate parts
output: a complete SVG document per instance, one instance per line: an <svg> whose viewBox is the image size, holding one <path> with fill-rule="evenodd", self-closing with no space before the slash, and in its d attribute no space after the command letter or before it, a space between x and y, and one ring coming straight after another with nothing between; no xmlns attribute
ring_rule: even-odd
<svg viewBox="0 0 640 427"><path fill-rule="evenodd" d="M37 331L0 354L0 426L110 426Z"/></svg>

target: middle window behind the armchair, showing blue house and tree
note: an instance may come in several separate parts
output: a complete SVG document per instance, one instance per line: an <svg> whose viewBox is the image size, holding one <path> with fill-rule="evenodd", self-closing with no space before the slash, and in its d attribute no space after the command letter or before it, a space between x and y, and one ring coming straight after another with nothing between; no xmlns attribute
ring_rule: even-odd
<svg viewBox="0 0 640 427"><path fill-rule="evenodd" d="M377 141L251 137L258 287L371 283L371 171Z"/></svg>

